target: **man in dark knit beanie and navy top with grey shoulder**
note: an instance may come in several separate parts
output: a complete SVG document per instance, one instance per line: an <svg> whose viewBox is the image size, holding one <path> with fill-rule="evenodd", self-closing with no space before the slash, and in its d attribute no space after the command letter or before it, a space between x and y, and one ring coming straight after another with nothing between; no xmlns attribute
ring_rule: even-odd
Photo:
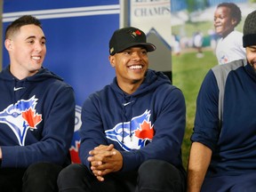
<svg viewBox="0 0 256 192"><path fill-rule="evenodd" d="M244 21L246 60L212 68L196 104L188 192L256 191L256 11Z"/></svg>

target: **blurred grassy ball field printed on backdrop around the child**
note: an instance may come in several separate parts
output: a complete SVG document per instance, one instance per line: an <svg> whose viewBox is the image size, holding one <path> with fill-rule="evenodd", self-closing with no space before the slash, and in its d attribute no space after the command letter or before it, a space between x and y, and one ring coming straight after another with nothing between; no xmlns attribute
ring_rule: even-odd
<svg viewBox="0 0 256 192"><path fill-rule="evenodd" d="M196 114L196 97L210 68L218 65L215 48L220 36L215 34L213 18L216 6L220 3L235 3L242 12L242 20L235 28L243 32L244 19L256 9L251 0L172 0L172 82L180 87L185 95L187 106L187 127L182 146L183 164L187 167L190 136ZM202 52L193 44L193 36L203 37Z"/></svg>

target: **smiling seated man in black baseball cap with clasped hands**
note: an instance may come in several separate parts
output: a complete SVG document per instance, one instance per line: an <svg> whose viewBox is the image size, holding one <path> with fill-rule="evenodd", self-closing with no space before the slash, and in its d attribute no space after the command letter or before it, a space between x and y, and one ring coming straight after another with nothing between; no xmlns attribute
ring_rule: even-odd
<svg viewBox="0 0 256 192"><path fill-rule="evenodd" d="M139 28L114 32L108 60L116 77L84 102L82 164L60 172L60 191L185 191L185 100L167 76L148 69L155 50Z"/></svg>

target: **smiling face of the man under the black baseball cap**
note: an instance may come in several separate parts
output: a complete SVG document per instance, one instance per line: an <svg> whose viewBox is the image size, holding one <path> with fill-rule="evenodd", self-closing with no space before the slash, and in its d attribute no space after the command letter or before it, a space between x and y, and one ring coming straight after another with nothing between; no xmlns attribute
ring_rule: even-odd
<svg viewBox="0 0 256 192"><path fill-rule="evenodd" d="M128 87L131 85L134 89L140 86L148 70L148 52L143 47L131 47L110 55L109 61L111 66L116 68L117 84L128 93Z"/></svg>

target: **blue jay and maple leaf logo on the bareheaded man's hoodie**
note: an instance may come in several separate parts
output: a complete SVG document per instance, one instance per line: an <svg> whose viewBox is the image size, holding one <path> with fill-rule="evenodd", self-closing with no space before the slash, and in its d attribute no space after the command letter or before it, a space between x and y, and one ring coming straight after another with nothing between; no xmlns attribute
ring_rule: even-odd
<svg viewBox="0 0 256 192"><path fill-rule="evenodd" d="M33 131L42 121L42 115L36 113L37 99L35 95L29 100L18 100L0 112L0 123L8 124L24 146L28 129Z"/></svg>

